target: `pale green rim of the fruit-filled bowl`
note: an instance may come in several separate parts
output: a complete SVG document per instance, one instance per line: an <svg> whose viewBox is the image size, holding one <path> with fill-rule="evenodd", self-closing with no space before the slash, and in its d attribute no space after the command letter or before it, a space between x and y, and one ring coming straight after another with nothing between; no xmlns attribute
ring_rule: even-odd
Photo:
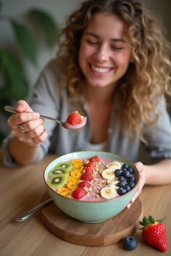
<svg viewBox="0 0 171 256"><path fill-rule="evenodd" d="M55 160L57 160L58 158L63 158L64 156L67 157L68 155L78 154L78 153L79 153L79 154L80 154L80 153L81 153L81 154L84 154L84 153L87 153L87 152L92 153L93 155L98 155L98 153L100 153L100 154L114 155L114 156L116 156L116 157L123 158L124 160L126 160L128 163L130 163L132 166L134 166L134 168L135 168L135 170L136 170L136 172L137 172L138 181L137 181L135 187L133 187L130 191L128 191L128 192L125 193L124 195L119 195L119 197L117 197L117 198L106 199L106 200L104 200L104 201L81 201L81 200L78 200L78 199L75 199L75 198L68 198L68 197L66 197L66 196L64 196L64 195L60 195L60 194L58 194L55 190L53 190L52 187L50 187L50 186L47 184L47 181L46 181L46 179L45 179L44 176L45 176L45 171L47 170L47 167L48 167L51 163L55 162ZM92 156L93 156L93 155L92 155ZM73 159L73 158L71 158L71 159ZM76 201L76 202L78 202L78 203L106 203L106 202L108 202L108 201L111 202L111 201L116 201L117 199L120 199L120 198L124 198L125 196L129 195L129 194L132 193L134 190L136 190L137 187L138 187L138 185L139 185L140 174L139 174L138 168L135 166L135 164L134 164L131 160L129 160L128 158L125 158L125 157L122 156L122 155L117 155L117 154L115 154L115 153L106 152L106 151L84 150L84 151L76 151L76 152L71 152L71 153L67 153L67 154L64 154L64 155L60 155L59 157L57 157L57 158L55 158L54 160L52 160L51 162L49 162L49 163L47 164L47 166L44 168L43 179L44 179L44 184L49 188L49 190L52 190L52 192L55 193L55 195L57 195L57 196L59 196L59 197L61 197L61 198L65 198L65 200Z"/></svg>

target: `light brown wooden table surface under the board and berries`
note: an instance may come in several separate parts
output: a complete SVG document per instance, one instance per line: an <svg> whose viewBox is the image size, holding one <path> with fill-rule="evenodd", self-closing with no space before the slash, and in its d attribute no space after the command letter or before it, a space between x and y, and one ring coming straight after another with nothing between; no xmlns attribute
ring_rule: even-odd
<svg viewBox="0 0 171 256"><path fill-rule="evenodd" d="M122 243L107 247L83 247L60 240L44 227L39 213L25 222L15 222L16 215L40 203L40 198L46 192L43 171L55 158L55 155L47 155L40 163L31 166L7 168L3 166L0 150L1 256L171 255L171 185L146 186L140 195L144 215L151 214L155 218L167 217L164 223L167 227L170 249L162 254L143 243L140 230L135 233L138 247L128 252L122 248Z"/></svg>

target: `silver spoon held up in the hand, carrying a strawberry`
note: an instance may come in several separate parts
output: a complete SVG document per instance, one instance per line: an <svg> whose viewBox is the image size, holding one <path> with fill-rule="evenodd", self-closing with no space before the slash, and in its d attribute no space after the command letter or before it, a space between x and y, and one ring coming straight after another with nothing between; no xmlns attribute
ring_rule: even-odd
<svg viewBox="0 0 171 256"><path fill-rule="evenodd" d="M15 107L13 106L4 106L4 109L7 111L7 112L11 112L11 113L15 113L15 114L18 114L18 112L15 111ZM53 118L53 117L47 117L46 115L40 115L41 118L44 118L44 119L47 119L47 120L52 120L52 121L55 121L57 122L59 125L62 125L63 128L66 128L66 129L79 129L81 127L83 127L86 123L87 123L87 117L82 117L82 122L78 125L71 125L69 124L67 121L65 122L60 122L60 120L57 120L56 118Z"/></svg>

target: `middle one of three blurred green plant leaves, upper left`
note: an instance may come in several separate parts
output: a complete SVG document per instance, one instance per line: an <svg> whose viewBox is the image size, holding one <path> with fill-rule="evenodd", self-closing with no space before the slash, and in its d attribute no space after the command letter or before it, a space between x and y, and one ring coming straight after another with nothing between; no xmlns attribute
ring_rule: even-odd
<svg viewBox="0 0 171 256"><path fill-rule="evenodd" d="M18 23L15 20L10 20L9 23L15 33L15 39L18 47L23 51L23 53L25 53L27 58L35 64L37 47L31 31L25 25Z"/></svg>

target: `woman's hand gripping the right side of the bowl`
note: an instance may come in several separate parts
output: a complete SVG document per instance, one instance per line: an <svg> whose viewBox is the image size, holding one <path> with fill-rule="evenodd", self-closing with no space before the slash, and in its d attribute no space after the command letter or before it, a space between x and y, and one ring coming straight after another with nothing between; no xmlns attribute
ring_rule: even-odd
<svg viewBox="0 0 171 256"><path fill-rule="evenodd" d="M140 180L139 180L138 190L136 191L136 193L133 196L130 203L127 204L127 209L130 209L130 206L132 205L132 203L134 203L135 199L138 198L138 196L140 195L140 193L143 189L143 186L146 182L146 175L145 175L145 170L144 170L143 163L137 162L137 163L135 163L135 166L138 168L138 171L139 171L139 174L140 174Z"/></svg>

